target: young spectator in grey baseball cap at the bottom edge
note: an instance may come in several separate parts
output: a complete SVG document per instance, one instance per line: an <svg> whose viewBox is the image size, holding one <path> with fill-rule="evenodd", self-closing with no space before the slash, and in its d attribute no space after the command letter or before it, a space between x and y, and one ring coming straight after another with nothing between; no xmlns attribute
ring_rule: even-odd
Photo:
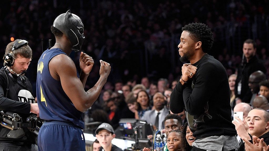
<svg viewBox="0 0 269 151"><path fill-rule="evenodd" d="M111 143L115 138L114 129L108 123L102 123L95 130L95 137L99 141L101 147L99 151L122 151L121 148Z"/></svg>

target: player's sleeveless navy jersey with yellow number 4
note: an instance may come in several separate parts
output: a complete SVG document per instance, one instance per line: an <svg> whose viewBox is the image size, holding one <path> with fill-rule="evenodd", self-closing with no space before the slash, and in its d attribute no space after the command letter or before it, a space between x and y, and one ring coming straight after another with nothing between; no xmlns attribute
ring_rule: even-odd
<svg viewBox="0 0 269 151"><path fill-rule="evenodd" d="M82 112L65 94L61 81L55 80L49 73L49 61L59 54L67 55L59 48L47 49L38 60L36 92L39 115L47 121L72 122L74 126L84 129Z"/></svg>

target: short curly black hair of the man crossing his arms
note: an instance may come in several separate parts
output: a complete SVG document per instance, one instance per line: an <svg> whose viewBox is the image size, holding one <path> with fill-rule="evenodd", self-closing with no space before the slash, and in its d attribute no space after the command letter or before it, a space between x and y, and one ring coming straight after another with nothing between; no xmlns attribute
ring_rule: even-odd
<svg viewBox="0 0 269 151"><path fill-rule="evenodd" d="M194 42L201 41L204 53L208 53L212 48L214 42L213 33L207 25L202 23L190 23L182 27L182 31L189 32L190 38L192 38Z"/></svg>

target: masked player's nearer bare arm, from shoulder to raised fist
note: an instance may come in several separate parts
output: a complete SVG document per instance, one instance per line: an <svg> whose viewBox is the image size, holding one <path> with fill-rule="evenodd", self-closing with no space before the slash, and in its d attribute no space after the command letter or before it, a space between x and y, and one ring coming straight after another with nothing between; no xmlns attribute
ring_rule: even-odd
<svg viewBox="0 0 269 151"><path fill-rule="evenodd" d="M110 73L110 64L100 61L100 78L93 88L84 91L84 86L77 77L74 62L65 54L55 56L49 62L49 71L55 80L61 80L63 90L70 98L75 108L81 112L87 111L98 98L101 89Z"/></svg>

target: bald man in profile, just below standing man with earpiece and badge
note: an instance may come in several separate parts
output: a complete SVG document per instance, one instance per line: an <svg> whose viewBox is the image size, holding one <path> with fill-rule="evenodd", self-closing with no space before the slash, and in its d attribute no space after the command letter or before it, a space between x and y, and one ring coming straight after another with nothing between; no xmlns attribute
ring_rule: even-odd
<svg viewBox="0 0 269 151"><path fill-rule="evenodd" d="M260 87L259 83L263 80L266 80L266 75L261 71L255 71L249 76L249 89L252 93L252 98L250 104L252 104L254 98L259 95Z"/></svg>

